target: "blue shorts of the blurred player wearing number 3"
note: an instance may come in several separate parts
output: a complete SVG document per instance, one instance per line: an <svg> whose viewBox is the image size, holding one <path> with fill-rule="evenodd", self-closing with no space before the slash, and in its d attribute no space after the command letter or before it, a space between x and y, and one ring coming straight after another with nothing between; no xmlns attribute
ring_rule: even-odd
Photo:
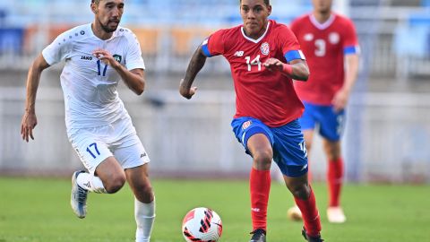
<svg viewBox="0 0 430 242"><path fill-rule="evenodd" d="M302 130L314 129L315 125L319 125L320 134L332 142L340 140L345 127L345 110L340 112L334 111L333 106L314 105L308 102L303 102L305 112L298 119Z"/></svg>

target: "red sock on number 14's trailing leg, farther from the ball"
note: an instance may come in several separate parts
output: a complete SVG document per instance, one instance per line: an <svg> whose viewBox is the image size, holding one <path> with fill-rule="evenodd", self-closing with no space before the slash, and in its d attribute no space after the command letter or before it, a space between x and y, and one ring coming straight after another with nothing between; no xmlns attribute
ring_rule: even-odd
<svg viewBox="0 0 430 242"><path fill-rule="evenodd" d="M302 212L305 229L308 235L316 237L321 231L320 213L316 208L315 195L311 187L311 194L307 200L294 197L300 212Z"/></svg>

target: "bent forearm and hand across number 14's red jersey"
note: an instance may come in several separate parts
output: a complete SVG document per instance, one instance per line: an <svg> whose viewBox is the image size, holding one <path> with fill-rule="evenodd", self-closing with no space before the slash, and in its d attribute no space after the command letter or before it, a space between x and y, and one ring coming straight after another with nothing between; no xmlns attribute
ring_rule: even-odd
<svg viewBox="0 0 430 242"><path fill-rule="evenodd" d="M269 58L263 65L272 72L280 72L297 81L307 81L309 77L309 68L304 60L297 59L285 64L277 58Z"/></svg>

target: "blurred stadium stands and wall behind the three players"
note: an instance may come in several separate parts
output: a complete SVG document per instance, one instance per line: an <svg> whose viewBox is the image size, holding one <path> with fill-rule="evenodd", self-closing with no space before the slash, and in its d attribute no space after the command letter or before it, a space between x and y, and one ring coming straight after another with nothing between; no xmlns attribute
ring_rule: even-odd
<svg viewBox="0 0 430 242"><path fill-rule="evenodd" d="M241 23L237 2L125 0L122 25L141 42L148 86L141 97L124 85L119 92L154 176L247 177L250 158L229 125L235 95L227 62L208 60L195 99L177 91L202 39ZM312 7L310 0L271 4L271 18L285 23ZM335 0L335 9L356 23L363 52L344 137L348 181L429 183L430 1ZM92 20L90 0L0 2L0 176L69 176L82 167L65 134L62 65L42 75L34 142L22 142L20 124L33 58L62 31ZM316 142L311 166L322 180Z"/></svg>

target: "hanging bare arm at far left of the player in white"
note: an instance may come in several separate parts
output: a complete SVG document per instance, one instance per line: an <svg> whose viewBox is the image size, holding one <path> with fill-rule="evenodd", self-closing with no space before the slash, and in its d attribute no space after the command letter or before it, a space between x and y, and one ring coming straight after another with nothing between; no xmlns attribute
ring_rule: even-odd
<svg viewBox="0 0 430 242"><path fill-rule="evenodd" d="M22 116L21 135L22 140L29 142L29 137L34 140L33 129L38 125L36 117L36 93L38 92L40 74L49 65L45 58L40 54L30 66L29 75L27 76L27 99L25 102L25 112Z"/></svg>

